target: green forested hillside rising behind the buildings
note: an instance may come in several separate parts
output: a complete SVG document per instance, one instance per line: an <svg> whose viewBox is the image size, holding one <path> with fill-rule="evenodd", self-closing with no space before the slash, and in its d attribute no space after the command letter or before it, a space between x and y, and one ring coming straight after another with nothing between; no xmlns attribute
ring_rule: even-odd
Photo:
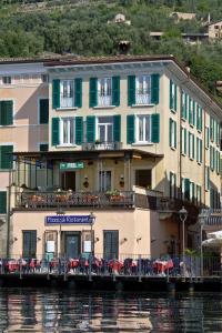
<svg viewBox="0 0 222 333"><path fill-rule="evenodd" d="M195 12L196 18L176 22L172 11ZM117 13L131 24L114 23ZM174 54L215 94L222 41L191 46L181 39L181 32L204 32L209 13L212 21L222 20L222 0L0 0L0 57L117 54L119 41L128 40L132 54ZM155 41L150 31L164 36Z"/></svg>

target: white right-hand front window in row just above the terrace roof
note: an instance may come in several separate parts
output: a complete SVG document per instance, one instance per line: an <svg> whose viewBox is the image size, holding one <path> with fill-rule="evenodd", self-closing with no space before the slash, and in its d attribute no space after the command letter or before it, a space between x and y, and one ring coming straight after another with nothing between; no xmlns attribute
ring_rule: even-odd
<svg viewBox="0 0 222 333"><path fill-rule="evenodd" d="M151 115L138 115L135 118L137 142L151 142Z"/></svg>

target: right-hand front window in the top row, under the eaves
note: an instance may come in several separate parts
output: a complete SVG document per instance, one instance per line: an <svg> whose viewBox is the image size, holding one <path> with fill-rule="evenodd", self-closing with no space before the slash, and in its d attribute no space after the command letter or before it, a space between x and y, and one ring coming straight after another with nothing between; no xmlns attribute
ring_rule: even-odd
<svg viewBox="0 0 222 333"><path fill-rule="evenodd" d="M151 77L139 75L135 80L135 104L150 104L151 102Z"/></svg>

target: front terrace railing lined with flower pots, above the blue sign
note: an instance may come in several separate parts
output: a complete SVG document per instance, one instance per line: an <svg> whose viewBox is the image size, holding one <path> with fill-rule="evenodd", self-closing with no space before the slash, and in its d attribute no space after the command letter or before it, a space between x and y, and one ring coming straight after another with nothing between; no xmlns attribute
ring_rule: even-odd
<svg viewBox="0 0 222 333"><path fill-rule="evenodd" d="M104 192L22 192L17 194L17 209L54 209L58 205L64 208L74 206L122 206L134 205L134 192L121 191L119 194Z"/></svg>

